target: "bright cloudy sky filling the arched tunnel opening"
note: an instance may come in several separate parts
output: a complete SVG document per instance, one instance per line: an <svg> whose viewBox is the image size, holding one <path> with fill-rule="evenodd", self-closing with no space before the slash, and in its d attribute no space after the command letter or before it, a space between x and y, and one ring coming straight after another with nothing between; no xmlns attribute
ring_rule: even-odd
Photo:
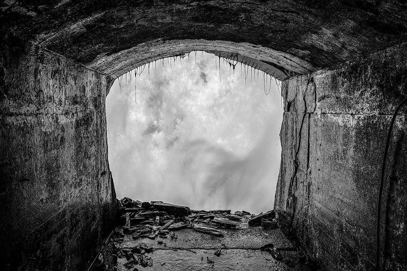
<svg viewBox="0 0 407 271"><path fill-rule="evenodd" d="M193 51L145 63L115 80L106 116L119 199L197 210L273 209L281 82L238 59Z"/></svg>

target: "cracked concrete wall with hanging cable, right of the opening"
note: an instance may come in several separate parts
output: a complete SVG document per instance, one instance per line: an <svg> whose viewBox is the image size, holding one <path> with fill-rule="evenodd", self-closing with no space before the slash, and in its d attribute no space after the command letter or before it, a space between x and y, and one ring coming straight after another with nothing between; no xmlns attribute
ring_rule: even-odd
<svg viewBox="0 0 407 271"><path fill-rule="evenodd" d="M282 228L324 270L374 268L385 141L406 87L407 46L283 83L275 208ZM383 270L407 270L406 113L397 118L387 160Z"/></svg>

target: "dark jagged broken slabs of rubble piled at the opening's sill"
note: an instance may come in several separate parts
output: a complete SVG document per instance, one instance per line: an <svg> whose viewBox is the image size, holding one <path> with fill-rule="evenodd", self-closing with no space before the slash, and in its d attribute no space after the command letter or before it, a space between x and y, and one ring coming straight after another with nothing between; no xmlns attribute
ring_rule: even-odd
<svg viewBox="0 0 407 271"><path fill-rule="evenodd" d="M250 226L277 228L274 211L252 215L246 211L231 210L191 210L187 206L168 204L160 201L140 202L124 197L120 201L120 230L112 233L112 254L118 258L126 258L125 267L138 270L137 265L151 267L153 260L146 254L153 253L153 248L142 242L142 238L156 240L159 245L166 246L167 239L177 239L177 230L189 228L198 232L223 236L222 229L236 228L243 220ZM122 231L123 229L123 231ZM125 234L137 243L134 247L123 246ZM148 242L147 242L148 243ZM216 252L221 255L221 250Z"/></svg>

